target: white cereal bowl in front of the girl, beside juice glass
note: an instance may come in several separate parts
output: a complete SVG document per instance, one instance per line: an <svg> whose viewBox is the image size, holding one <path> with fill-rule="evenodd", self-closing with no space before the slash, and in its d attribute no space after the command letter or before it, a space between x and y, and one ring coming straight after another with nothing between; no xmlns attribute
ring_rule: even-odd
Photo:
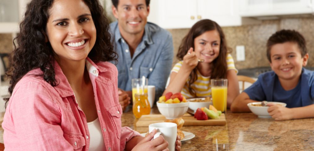
<svg viewBox="0 0 314 151"><path fill-rule="evenodd" d="M193 111L196 111L198 108L209 107L209 105L213 105L213 102L210 97L206 98L189 98L187 99L189 104L189 108Z"/></svg>

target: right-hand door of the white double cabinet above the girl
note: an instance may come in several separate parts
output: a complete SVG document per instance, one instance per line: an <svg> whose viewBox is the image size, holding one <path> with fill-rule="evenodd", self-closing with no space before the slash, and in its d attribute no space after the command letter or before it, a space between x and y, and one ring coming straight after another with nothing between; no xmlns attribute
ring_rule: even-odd
<svg viewBox="0 0 314 151"><path fill-rule="evenodd" d="M197 0L197 18L214 20L220 26L239 26L238 6L238 0Z"/></svg>

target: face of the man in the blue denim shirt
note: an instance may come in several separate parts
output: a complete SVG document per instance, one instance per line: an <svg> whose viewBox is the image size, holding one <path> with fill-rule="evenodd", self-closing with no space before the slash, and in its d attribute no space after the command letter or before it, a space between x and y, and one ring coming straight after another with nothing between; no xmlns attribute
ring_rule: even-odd
<svg viewBox="0 0 314 151"><path fill-rule="evenodd" d="M143 34L149 14L145 0L119 0L117 8L112 6L112 12L122 35Z"/></svg>

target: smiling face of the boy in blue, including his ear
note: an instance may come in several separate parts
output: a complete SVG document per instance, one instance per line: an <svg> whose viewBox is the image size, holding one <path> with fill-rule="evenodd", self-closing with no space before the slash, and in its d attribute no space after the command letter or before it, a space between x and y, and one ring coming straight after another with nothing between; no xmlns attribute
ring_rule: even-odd
<svg viewBox="0 0 314 151"><path fill-rule="evenodd" d="M298 80L302 66L306 66L308 54L301 56L297 43L284 42L275 44L270 50L272 70L277 74L279 81Z"/></svg>

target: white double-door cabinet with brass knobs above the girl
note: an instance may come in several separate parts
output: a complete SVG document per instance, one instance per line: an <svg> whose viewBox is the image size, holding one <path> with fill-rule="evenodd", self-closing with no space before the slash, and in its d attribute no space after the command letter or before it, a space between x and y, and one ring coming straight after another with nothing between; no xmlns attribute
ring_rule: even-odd
<svg viewBox="0 0 314 151"><path fill-rule="evenodd" d="M211 19L220 26L241 25L238 0L151 0L148 21L162 28L191 28Z"/></svg>

